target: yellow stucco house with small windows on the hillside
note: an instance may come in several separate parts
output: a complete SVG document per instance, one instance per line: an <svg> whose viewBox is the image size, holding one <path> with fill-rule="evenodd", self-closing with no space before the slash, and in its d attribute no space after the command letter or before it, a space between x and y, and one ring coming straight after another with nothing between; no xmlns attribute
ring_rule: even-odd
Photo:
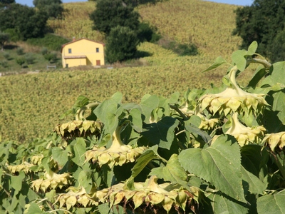
<svg viewBox="0 0 285 214"><path fill-rule="evenodd" d="M90 39L73 39L61 46L63 68L103 66L105 44Z"/></svg>

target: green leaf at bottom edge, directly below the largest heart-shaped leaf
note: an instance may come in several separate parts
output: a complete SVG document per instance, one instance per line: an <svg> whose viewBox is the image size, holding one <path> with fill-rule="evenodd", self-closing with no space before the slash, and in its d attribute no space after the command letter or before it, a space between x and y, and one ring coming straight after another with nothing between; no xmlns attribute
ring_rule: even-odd
<svg viewBox="0 0 285 214"><path fill-rule="evenodd" d="M248 213L248 209L245 207L245 204L237 203L237 201L230 200L231 198L227 197L227 195L216 193L209 195L208 198L211 199L212 205L212 212L209 211L208 213Z"/></svg>

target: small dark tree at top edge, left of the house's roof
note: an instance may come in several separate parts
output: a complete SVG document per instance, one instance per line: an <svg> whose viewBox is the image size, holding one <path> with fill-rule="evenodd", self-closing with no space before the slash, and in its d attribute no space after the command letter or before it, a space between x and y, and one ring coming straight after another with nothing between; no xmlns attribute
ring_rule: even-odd
<svg viewBox="0 0 285 214"><path fill-rule="evenodd" d="M61 0L33 0L33 5L40 11L44 11L48 17L62 18L64 9Z"/></svg>

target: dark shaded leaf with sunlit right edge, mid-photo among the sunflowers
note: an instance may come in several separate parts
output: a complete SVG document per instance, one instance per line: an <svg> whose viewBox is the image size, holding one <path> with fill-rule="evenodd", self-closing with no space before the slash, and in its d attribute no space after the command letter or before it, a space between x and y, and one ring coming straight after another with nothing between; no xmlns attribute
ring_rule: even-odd
<svg viewBox="0 0 285 214"><path fill-rule="evenodd" d="M157 123L145 124L142 136L148 139L150 143L159 145L160 148L170 149L175 137L175 128L179 121L170 116L162 118Z"/></svg>

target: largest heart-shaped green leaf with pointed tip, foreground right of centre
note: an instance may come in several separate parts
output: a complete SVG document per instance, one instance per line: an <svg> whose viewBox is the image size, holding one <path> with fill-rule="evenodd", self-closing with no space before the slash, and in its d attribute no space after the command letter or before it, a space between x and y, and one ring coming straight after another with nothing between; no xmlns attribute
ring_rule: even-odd
<svg viewBox="0 0 285 214"><path fill-rule="evenodd" d="M226 195L245 202L239 146L231 136L219 136L205 149L182 151L178 158L189 173L207 180Z"/></svg>

